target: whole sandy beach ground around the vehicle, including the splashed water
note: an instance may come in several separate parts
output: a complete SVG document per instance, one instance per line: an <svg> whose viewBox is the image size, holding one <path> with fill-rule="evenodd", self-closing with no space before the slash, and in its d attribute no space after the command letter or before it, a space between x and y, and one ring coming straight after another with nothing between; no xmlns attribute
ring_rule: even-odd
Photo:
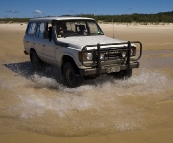
<svg viewBox="0 0 173 143"><path fill-rule="evenodd" d="M101 24L113 37L113 27ZM60 69L35 74L23 53L26 25L0 24L0 142L173 142L173 24L114 25L143 43L128 80L100 76L76 89Z"/></svg>

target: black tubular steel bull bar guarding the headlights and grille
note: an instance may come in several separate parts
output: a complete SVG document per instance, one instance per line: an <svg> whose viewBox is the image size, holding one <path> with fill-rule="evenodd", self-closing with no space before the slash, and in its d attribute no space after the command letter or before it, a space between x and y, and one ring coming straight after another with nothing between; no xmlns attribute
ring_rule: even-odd
<svg viewBox="0 0 173 143"><path fill-rule="evenodd" d="M131 59L131 48L132 48L131 44L139 44L139 55L135 59ZM113 45L115 45L115 46L117 46L117 45L119 45L119 46L127 45L127 46L124 46L124 47L122 47L122 46L121 47L110 47L110 48L101 49L102 46L113 46ZM93 47L94 49L87 50L87 47L90 47L90 48ZM86 45L86 46L83 47L81 52L83 52L83 53L86 53L86 52L92 53L93 54L92 61L93 61L93 63L94 63L94 61L96 61L96 63L93 64L93 65L87 65L87 64L84 63L85 61L83 59L81 59L82 65L85 66L85 67L95 68L96 69L96 74L100 75L100 71L101 71L101 59L100 59L100 57L101 57L101 52L103 50L104 51L106 51L106 50L108 50L108 51L109 50L126 50L127 51L127 56L125 58L127 58L127 61L126 61L125 66L129 69L131 67L130 66L130 61L134 61L134 62L138 63L138 66L139 66L139 62L137 62L137 61L142 56L142 43L139 42L139 41L131 41L131 42L128 41L128 42L122 42L122 43L108 43L108 44L99 44L98 43L96 45ZM123 59L123 58L124 57L119 57L118 59Z"/></svg>

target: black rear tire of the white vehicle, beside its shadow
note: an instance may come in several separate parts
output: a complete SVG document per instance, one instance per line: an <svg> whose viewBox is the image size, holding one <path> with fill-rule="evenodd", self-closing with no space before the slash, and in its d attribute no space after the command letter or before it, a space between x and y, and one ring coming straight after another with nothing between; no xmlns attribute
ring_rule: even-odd
<svg viewBox="0 0 173 143"><path fill-rule="evenodd" d="M36 72L43 70L43 62L40 60L36 52L31 52L31 63Z"/></svg>

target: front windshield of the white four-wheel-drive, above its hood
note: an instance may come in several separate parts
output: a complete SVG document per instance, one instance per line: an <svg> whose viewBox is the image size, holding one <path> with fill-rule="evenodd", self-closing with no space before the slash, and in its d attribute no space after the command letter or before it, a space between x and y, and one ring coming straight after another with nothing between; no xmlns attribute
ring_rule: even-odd
<svg viewBox="0 0 173 143"><path fill-rule="evenodd" d="M58 21L57 37L103 35L101 28L94 20Z"/></svg>

